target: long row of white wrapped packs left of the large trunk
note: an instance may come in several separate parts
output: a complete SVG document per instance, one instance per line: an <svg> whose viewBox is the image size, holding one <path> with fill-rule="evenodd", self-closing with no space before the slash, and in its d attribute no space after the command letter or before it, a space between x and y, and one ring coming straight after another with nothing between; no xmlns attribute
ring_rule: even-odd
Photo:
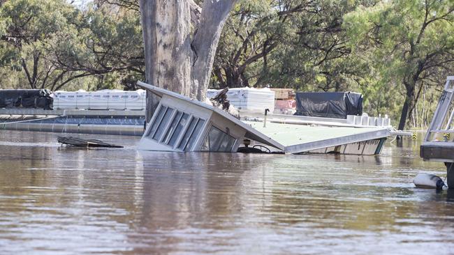
<svg viewBox="0 0 454 255"><path fill-rule="evenodd" d="M142 110L146 93L138 91L55 91L54 109Z"/></svg>

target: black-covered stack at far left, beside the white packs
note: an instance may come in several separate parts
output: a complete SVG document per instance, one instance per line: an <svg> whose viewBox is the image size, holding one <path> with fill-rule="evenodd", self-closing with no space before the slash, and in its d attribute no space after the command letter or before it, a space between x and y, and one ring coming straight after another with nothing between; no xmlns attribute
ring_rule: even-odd
<svg viewBox="0 0 454 255"><path fill-rule="evenodd" d="M47 89L2 89L0 108L52 109L54 99Z"/></svg>

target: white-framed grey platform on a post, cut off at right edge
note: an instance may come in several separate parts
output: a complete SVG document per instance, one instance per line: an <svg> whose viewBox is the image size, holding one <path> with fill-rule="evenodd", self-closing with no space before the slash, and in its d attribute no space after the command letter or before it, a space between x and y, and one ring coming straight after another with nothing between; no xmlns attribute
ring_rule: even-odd
<svg viewBox="0 0 454 255"><path fill-rule="evenodd" d="M444 162L448 187L454 188L454 76L448 76L432 123L420 148L424 160Z"/></svg>

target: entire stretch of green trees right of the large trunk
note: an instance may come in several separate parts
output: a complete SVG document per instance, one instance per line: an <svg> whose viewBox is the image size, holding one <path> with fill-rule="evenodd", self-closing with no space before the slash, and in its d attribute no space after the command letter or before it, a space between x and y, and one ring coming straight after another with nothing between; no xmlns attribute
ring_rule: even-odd
<svg viewBox="0 0 454 255"><path fill-rule="evenodd" d="M427 123L421 113L430 116L436 100L418 100L436 98L454 69L453 6L453 0L242 0L224 27L212 86L358 91L369 114L421 125Z"/></svg>

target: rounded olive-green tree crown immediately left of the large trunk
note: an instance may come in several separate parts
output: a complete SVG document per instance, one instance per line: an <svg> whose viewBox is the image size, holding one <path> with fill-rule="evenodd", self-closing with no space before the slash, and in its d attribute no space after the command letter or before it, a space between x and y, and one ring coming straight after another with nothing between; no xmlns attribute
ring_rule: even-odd
<svg viewBox="0 0 454 255"><path fill-rule="evenodd" d="M134 10L98 3L84 13L79 31L63 33L50 44L47 58L64 72L94 75L132 86L145 75L140 17ZM99 89L99 87L98 87Z"/></svg>

